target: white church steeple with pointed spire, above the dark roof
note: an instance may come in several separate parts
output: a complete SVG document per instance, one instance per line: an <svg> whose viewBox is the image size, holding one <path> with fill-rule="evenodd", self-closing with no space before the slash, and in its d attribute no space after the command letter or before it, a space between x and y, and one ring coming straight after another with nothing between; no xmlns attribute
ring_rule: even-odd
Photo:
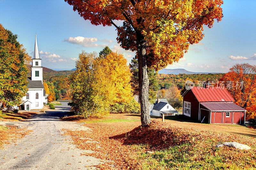
<svg viewBox="0 0 256 170"><path fill-rule="evenodd" d="M41 59L39 58L39 52L38 52L36 40L35 40L34 57L32 58L31 80L32 81L41 80L43 83L43 67L41 66Z"/></svg>

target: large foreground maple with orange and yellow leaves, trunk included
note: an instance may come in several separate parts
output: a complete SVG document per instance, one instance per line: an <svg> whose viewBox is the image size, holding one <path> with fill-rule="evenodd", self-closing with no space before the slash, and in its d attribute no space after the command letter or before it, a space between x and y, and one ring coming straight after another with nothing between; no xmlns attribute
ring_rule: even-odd
<svg viewBox="0 0 256 170"><path fill-rule="evenodd" d="M159 70L178 62L189 44L204 37L203 26L222 18L222 0L65 0L93 25L115 26L117 41L137 52L141 124L151 120L147 68ZM115 20L123 21L117 26Z"/></svg>

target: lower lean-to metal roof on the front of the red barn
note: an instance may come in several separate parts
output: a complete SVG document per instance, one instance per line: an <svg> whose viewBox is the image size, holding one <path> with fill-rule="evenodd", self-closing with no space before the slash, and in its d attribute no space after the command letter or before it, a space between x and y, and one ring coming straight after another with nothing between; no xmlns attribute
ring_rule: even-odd
<svg viewBox="0 0 256 170"><path fill-rule="evenodd" d="M233 102L202 102L200 104L211 111L246 111Z"/></svg>

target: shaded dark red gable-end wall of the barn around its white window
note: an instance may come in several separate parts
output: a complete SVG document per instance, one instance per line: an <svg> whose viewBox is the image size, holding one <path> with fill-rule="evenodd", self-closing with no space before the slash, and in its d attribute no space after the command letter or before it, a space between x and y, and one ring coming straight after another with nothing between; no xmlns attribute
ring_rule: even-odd
<svg viewBox="0 0 256 170"><path fill-rule="evenodd" d="M198 121L199 102L197 101L195 95L191 90L189 90L186 93L186 95L183 97L183 107L184 107L184 101L188 101L191 103L190 117L192 120Z"/></svg>

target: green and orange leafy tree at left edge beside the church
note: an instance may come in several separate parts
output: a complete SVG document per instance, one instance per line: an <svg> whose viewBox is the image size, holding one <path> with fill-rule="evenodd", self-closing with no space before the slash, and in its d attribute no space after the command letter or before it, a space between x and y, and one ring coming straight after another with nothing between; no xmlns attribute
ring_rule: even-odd
<svg viewBox="0 0 256 170"><path fill-rule="evenodd" d="M17 41L18 35L4 29L0 24L0 105L9 110L21 103L25 96L28 82L27 62L28 53Z"/></svg>

